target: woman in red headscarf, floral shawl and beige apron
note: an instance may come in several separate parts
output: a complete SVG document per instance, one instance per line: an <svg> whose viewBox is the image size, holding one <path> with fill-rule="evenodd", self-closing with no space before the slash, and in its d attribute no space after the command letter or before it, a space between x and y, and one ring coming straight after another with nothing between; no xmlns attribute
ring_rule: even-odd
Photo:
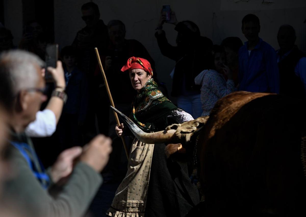
<svg viewBox="0 0 306 217"><path fill-rule="evenodd" d="M193 120L158 89L146 59L129 58L121 69L127 70L138 92L132 102L130 118L140 129L156 132L170 124ZM123 124L115 130L118 136L127 133ZM187 157L176 153L167 158L165 147L165 144L144 144L134 139L128 172L116 191L108 215L185 216L199 203L198 190L188 176Z"/></svg>

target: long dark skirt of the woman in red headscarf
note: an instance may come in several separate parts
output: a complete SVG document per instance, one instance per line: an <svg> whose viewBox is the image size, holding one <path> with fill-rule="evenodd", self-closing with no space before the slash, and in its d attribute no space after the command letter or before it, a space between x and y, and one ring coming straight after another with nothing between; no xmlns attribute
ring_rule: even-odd
<svg viewBox="0 0 306 217"><path fill-rule="evenodd" d="M165 144L155 144L145 217L185 216L200 202L196 185L188 177L187 163L179 156L166 158Z"/></svg>

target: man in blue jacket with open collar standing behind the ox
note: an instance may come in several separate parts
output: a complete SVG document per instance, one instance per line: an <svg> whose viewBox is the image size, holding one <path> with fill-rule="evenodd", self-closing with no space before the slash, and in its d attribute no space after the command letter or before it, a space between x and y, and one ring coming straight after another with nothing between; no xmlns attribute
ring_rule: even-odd
<svg viewBox="0 0 306 217"><path fill-rule="evenodd" d="M259 38L259 18L246 15L241 29L248 41L239 49L239 90L279 93L275 50Z"/></svg>

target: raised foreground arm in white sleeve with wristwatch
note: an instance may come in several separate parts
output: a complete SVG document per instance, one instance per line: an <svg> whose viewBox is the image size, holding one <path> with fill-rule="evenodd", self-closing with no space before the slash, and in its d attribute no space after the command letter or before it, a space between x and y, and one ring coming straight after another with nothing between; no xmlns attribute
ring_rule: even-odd
<svg viewBox="0 0 306 217"><path fill-rule="evenodd" d="M29 137L50 137L56 130L56 125L62 114L62 109L65 101L65 76L62 67L62 62L57 62L56 69L52 67L47 68L48 72L52 74L55 89L43 111L36 113L36 120L28 125L25 133ZM45 69L42 70L42 76L45 74Z"/></svg>

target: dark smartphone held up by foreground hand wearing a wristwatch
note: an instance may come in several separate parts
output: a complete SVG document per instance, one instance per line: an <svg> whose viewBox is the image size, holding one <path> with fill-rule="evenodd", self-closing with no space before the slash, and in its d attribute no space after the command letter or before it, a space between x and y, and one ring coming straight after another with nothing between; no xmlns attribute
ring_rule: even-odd
<svg viewBox="0 0 306 217"><path fill-rule="evenodd" d="M47 71L48 66L56 68L56 62L58 61L58 44L47 44L46 47L46 73L45 80L53 80L52 75Z"/></svg>

